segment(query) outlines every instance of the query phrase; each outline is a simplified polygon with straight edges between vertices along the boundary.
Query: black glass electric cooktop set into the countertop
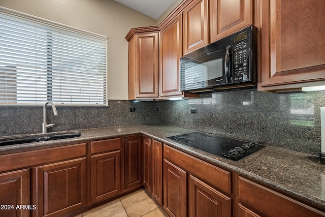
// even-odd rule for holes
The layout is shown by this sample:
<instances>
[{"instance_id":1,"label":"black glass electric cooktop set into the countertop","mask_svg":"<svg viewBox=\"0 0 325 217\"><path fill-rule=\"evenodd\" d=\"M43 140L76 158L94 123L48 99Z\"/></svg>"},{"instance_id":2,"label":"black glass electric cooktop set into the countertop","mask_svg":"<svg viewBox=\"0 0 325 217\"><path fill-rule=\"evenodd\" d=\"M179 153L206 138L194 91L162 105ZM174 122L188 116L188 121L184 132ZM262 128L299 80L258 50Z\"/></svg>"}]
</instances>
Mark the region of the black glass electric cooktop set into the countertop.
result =
<instances>
[{"instance_id":1,"label":"black glass electric cooktop set into the countertop","mask_svg":"<svg viewBox=\"0 0 325 217\"><path fill-rule=\"evenodd\" d=\"M203 150L216 156L239 161L258 150L264 145L254 142L244 142L236 139L220 137L200 132L167 137L183 145Z\"/></svg>"}]
</instances>

